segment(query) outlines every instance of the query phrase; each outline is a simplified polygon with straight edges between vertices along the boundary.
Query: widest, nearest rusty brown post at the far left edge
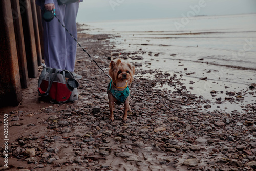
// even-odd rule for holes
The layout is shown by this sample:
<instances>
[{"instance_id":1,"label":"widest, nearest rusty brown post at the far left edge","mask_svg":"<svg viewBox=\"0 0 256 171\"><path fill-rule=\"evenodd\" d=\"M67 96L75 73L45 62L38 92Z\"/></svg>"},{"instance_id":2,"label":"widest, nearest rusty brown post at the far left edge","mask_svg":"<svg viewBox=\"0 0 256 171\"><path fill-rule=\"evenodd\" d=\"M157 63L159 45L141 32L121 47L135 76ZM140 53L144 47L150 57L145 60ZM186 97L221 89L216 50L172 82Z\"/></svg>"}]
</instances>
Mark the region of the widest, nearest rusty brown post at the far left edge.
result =
<instances>
[{"instance_id":1,"label":"widest, nearest rusty brown post at the far left edge","mask_svg":"<svg viewBox=\"0 0 256 171\"><path fill-rule=\"evenodd\" d=\"M22 91L10 1L0 1L0 23L0 106L17 106Z\"/></svg>"}]
</instances>

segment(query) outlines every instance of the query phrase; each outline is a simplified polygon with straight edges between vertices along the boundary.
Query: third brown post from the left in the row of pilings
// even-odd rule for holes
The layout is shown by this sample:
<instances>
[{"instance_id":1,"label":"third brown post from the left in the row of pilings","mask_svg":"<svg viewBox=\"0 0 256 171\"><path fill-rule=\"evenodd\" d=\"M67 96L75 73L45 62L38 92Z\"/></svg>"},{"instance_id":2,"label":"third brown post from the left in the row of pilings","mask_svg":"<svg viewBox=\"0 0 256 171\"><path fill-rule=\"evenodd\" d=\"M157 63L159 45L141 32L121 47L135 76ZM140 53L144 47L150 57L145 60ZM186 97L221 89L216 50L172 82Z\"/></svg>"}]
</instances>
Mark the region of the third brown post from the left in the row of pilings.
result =
<instances>
[{"instance_id":1,"label":"third brown post from the left in the row of pilings","mask_svg":"<svg viewBox=\"0 0 256 171\"><path fill-rule=\"evenodd\" d=\"M36 78L38 75L38 63L30 0L19 0L19 5L20 13L22 14L22 26L27 57L28 75L30 78Z\"/></svg>"}]
</instances>

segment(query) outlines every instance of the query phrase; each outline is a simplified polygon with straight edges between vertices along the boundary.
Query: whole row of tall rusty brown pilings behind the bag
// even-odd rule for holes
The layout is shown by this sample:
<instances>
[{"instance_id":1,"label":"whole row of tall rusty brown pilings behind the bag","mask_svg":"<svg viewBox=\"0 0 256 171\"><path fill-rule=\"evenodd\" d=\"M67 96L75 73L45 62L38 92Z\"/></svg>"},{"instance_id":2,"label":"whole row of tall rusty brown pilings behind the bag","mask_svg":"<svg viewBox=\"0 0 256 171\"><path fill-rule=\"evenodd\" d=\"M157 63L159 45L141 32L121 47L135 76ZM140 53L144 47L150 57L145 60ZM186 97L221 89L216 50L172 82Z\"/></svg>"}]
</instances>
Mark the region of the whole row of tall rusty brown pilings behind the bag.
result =
<instances>
[{"instance_id":1,"label":"whole row of tall rusty brown pilings behind the bag","mask_svg":"<svg viewBox=\"0 0 256 171\"><path fill-rule=\"evenodd\" d=\"M35 0L0 1L0 106L17 106L42 63L41 10Z\"/></svg>"}]
</instances>

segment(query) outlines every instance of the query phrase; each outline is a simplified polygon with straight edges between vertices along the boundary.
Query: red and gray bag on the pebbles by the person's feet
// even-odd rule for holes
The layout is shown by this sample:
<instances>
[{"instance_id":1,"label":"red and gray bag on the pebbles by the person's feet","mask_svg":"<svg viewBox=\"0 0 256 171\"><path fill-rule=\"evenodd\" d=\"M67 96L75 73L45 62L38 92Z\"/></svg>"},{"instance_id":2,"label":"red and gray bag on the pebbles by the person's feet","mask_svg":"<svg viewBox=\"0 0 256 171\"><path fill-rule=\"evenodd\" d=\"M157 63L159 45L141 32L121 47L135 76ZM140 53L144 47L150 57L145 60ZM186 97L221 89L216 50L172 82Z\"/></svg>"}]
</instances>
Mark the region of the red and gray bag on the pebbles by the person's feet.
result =
<instances>
[{"instance_id":1,"label":"red and gray bag on the pebbles by the person's feet","mask_svg":"<svg viewBox=\"0 0 256 171\"><path fill-rule=\"evenodd\" d=\"M79 83L68 70L60 70L42 65L43 69L38 79L38 93L49 96L56 102L74 101L78 99Z\"/></svg>"}]
</instances>

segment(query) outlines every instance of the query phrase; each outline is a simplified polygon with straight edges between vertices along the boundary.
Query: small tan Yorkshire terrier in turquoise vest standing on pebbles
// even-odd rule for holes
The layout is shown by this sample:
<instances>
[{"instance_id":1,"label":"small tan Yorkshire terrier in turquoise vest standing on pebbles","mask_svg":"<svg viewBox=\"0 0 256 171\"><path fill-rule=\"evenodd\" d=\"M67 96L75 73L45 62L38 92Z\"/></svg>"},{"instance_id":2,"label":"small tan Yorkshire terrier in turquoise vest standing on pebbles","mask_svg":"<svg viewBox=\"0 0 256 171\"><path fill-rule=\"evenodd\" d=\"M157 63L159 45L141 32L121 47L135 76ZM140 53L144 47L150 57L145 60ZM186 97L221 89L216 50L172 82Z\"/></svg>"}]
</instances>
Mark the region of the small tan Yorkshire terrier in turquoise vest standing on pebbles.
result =
<instances>
[{"instance_id":1,"label":"small tan Yorkshire terrier in turquoise vest standing on pebbles","mask_svg":"<svg viewBox=\"0 0 256 171\"><path fill-rule=\"evenodd\" d=\"M135 66L130 62L122 62L121 59L111 61L109 75L111 81L108 86L110 107L110 120L114 121L114 102L118 105L124 103L123 121L127 120L127 112L131 111L129 105L130 91L128 85L132 82L135 74Z\"/></svg>"}]
</instances>

